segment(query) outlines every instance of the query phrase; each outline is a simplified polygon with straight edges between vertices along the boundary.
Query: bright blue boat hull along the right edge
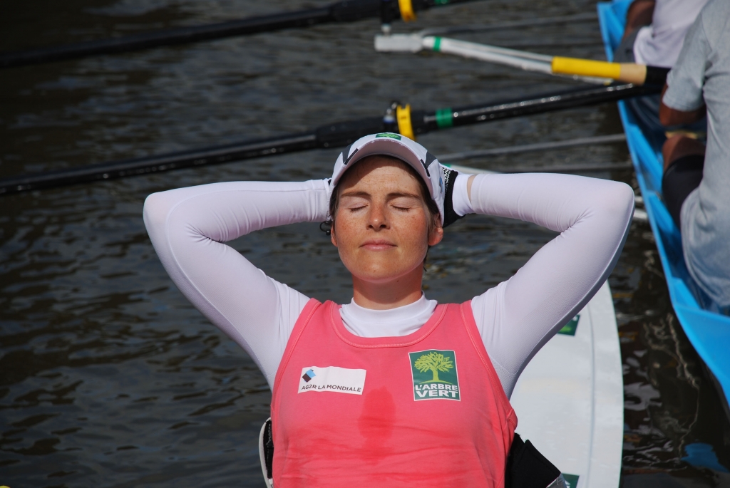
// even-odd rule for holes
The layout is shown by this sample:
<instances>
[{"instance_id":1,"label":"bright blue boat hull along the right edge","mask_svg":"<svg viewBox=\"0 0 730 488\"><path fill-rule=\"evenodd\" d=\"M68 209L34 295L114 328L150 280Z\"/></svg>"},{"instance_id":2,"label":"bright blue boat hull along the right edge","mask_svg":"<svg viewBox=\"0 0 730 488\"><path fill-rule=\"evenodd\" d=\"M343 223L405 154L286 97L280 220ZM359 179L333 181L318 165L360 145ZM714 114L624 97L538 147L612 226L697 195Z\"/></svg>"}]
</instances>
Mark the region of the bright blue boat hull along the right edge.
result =
<instances>
[{"instance_id":1,"label":"bright blue boat hull along the right edge","mask_svg":"<svg viewBox=\"0 0 730 488\"><path fill-rule=\"evenodd\" d=\"M630 4L631 0L598 4L601 35L609 61L621 42ZM730 395L730 317L715 314L700 305L705 303L707 306L707 299L687 271L680 231L661 198L661 147L652 147L650 139L642 133L623 101L618 102L618 111L664 268L669 298L687 337L719 383L727 409Z\"/></svg>"}]
</instances>

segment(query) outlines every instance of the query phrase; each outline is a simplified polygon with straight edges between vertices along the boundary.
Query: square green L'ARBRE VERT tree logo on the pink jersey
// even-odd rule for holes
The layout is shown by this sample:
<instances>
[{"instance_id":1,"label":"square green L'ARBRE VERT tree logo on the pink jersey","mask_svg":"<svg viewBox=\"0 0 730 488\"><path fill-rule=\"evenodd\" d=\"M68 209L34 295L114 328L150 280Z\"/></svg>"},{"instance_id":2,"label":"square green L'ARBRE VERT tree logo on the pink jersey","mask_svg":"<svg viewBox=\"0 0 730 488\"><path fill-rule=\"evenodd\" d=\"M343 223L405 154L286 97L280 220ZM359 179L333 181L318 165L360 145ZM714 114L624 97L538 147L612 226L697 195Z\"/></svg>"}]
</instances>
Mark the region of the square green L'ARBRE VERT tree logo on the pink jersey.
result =
<instances>
[{"instance_id":1,"label":"square green L'ARBRE VERT tree logo on the pink jersey","mask_svg":"<svg viewBox=\"0 0 730 488\"><path fill-rule=\"evenodd\" d=\"M453 351L409 352L413 378L413 400L458 400L458 372Z\"/></svg>"}]
</instances>

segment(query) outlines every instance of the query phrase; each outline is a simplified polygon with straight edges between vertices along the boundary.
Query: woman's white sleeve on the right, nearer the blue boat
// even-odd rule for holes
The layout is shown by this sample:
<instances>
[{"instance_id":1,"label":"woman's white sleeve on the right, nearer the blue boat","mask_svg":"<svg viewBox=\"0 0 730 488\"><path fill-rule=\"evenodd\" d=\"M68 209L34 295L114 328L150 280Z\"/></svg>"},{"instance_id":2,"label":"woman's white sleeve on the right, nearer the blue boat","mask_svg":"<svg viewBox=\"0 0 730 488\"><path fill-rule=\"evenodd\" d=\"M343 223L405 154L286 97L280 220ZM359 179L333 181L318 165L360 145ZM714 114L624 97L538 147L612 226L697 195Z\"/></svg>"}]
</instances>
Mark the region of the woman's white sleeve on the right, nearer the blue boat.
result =
<instances>
[{"instance_id":1,"label":"woman's white sleeve on the right, nearer the blue boat","mask_svg":"<svg viewBox=\"0 0 730 488\"><path fill-rule=\"evenodd\" d=\"M634 191L566 174L480 174L478 214L560 232L519 271L472 300L477 327L509 398L529 360L606 281L631 225Z\"/></svg>"}]
</instances>

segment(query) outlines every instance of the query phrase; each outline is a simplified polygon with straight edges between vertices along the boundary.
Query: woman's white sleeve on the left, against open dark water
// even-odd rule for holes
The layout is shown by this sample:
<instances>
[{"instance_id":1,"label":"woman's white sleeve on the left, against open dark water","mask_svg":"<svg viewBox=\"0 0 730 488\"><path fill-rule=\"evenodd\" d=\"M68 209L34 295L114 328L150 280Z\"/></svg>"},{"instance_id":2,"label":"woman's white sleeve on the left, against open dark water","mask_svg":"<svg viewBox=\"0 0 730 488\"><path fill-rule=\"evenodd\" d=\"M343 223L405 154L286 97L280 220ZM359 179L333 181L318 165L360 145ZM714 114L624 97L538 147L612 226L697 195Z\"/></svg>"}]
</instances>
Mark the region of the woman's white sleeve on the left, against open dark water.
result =
<instances>
[{"instance_id":1,"label":"woman's white sleeve on the left, against open dark water","mask_svg":"<svg viewBox=\"0 0 730 488\"><path fill-rule=\"evenodd\" d=\"M275 225L325 220L326 182L231 182L153 193L145 225L174 284L239 344L273 387L308 298L223 244Z\"/></svg>"}]
</instances>

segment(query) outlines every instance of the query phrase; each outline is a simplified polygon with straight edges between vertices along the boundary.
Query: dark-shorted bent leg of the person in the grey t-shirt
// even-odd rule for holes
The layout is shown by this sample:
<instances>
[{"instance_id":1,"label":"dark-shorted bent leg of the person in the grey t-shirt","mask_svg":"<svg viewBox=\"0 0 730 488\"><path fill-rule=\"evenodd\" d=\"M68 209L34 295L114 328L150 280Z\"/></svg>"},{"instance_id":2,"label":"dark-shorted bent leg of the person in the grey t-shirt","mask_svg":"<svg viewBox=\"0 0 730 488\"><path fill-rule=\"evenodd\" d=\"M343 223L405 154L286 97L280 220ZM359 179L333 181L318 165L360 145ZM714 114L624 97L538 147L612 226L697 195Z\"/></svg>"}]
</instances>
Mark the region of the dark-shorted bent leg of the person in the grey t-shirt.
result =
<instances>
[{"instance_id":1,"label":"dark-shorted bent leg of the person in the grey t-shirt","mask_svg":"<svg viewBox=\"0 0 730 488\"><path fill-rule=\"evenodd\" d=\"M673 136L666 139L661 152L664 156L661 193L669 214L681 229L682 204L702 182L704 144L687 136Z\"/></svg>"}]
</instances>

